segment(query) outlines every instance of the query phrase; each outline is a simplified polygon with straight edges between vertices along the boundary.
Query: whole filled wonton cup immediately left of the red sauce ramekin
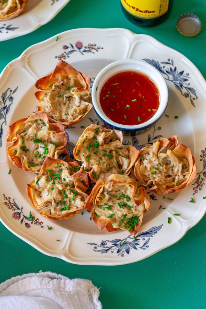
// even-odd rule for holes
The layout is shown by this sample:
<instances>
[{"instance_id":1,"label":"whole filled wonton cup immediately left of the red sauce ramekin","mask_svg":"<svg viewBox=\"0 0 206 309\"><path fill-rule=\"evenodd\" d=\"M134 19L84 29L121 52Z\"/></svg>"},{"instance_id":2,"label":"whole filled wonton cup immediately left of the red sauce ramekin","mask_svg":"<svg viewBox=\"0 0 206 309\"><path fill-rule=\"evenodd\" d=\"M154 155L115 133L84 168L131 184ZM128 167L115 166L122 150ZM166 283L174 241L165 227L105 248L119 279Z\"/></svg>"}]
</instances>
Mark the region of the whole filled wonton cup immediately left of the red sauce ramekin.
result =
<instances>
[{"instance_id":1,"label":"whole filled wonton cup immediately left of the red sauce ramekin","mask_svg":"<svg viewBox=\"0 0 206 309\"><path fill-rule=\"evenodd\" d=\"M80 122L92 108L90 77L61 60L52 74L40 78L35 93L49 121L71 126Z\"/></svg>"}]
</instances>

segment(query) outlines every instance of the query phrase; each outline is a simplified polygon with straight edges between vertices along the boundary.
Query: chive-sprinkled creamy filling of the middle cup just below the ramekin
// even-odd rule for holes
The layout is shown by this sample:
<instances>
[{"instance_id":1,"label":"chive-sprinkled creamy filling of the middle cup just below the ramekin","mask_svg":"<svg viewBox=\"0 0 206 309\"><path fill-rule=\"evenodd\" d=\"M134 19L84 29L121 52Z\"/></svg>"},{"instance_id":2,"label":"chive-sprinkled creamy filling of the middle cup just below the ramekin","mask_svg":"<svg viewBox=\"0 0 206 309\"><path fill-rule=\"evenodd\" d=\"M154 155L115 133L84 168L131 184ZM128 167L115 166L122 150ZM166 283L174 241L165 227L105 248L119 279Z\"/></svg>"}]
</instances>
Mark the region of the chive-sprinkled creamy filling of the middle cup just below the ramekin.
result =
<instances>
[{"instance_id":1,"label":"chive-sprinkled creamy filling of the middle cup just below the ramekin","mask_svg":"<svg viewBox=\"0 0 206 309\"><path fill-rule=\"evenodd\" d=\"M77 149L78 159L83 161L86 170L92 169L94 179L111 174L124 174L130 164L126 147L115 138L105 144L104 135L101 128L88 130Z\"/></svg>"}]
</instances>

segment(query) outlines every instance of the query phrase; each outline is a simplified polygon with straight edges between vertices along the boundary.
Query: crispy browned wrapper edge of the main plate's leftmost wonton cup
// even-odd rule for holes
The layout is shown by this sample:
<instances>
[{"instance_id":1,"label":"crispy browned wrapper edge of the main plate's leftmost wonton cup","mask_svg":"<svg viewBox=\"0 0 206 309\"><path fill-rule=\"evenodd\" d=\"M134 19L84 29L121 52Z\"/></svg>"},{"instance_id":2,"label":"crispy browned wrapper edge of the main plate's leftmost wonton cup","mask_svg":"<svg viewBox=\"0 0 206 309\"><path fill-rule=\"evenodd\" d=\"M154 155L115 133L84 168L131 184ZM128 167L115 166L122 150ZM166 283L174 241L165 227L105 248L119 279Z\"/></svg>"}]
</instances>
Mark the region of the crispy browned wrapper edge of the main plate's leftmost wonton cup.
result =
<instances>
[{"instance_id":1,"label":"crispy browned wrapper edge of the main plate's leftmost wonton cup","mask_svg":"<svg viewBox=\"0 0 206 309\"><path fill-rule=\"evenodd\" d=\"M19 143L19 139L17 138L16 133L21 131L27 120L30 121L36 118L42 119L44 120L45 123L48 124L48 117L46 112L38 111L36 113L33 113L30 117L15 121L12 125L9 126L6 133L7 142L12 143L11 146L7 147L8 158L16 167L23 168L24 171L29 171L31 173L34 173L36 171L31 171L30 169L27 168L26 156L24 156L24 158L21 160L21 158L15 154L15 150L17 149ZM65 133L65 129L63 125L57 123L49 124L49 129L52 131L51 141L54 142L57 146L55 149L54 158L58 159L58 156L62 153L62 151L65 150L65 146L67 144L67 136ZM38 171L39 170L37 170L37 172Z\"/></svg>"}]
</instances>

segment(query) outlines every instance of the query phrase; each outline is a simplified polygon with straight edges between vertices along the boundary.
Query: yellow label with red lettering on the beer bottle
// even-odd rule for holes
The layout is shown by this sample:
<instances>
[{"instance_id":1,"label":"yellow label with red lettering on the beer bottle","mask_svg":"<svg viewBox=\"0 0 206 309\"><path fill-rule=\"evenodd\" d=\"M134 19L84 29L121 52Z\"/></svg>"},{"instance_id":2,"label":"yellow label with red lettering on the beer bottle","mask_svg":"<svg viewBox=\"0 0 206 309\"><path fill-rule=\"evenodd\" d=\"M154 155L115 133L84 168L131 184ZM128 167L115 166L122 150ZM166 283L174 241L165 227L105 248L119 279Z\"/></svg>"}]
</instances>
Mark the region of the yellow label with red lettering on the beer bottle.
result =
<instances>
[{"instance_id":1,"label":"yellow label with red lettering on the beer bottle","mask_svg":"<svg viewBox=\"0 0 206 309\"><path fill-rule=\"evenodd\" d=\"M169 0L121 0L128 13L139 18L157 18L168 11Z\"/></svg>"}]
</instances>

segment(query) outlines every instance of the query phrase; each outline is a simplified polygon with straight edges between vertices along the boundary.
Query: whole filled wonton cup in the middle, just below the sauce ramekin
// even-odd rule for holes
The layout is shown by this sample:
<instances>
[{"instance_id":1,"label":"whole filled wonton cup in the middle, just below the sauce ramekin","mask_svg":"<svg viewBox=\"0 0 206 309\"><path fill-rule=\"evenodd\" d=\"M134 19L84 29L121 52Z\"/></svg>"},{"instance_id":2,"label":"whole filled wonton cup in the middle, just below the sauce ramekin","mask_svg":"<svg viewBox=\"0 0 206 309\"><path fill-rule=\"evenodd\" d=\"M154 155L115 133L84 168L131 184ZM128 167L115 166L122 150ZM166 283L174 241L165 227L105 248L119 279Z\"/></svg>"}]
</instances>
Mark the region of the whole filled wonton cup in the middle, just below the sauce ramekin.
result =
<instances>
[{"instance_id":1,"label":"whole filled wonton cup in the middle, just below the sauce ramekin","mask_svg":"<svg viewBox=\"0 0 206 309\"><path fill-rule=\"evenodd\" d=\"M121 131L92 124L78 139L74 158L83 162L82 168L94 182L111 174L128 175L139 150L132 145L122 145L122 140Z\"/></svg>"}]
</instances>

